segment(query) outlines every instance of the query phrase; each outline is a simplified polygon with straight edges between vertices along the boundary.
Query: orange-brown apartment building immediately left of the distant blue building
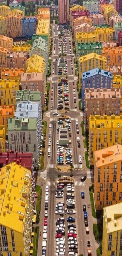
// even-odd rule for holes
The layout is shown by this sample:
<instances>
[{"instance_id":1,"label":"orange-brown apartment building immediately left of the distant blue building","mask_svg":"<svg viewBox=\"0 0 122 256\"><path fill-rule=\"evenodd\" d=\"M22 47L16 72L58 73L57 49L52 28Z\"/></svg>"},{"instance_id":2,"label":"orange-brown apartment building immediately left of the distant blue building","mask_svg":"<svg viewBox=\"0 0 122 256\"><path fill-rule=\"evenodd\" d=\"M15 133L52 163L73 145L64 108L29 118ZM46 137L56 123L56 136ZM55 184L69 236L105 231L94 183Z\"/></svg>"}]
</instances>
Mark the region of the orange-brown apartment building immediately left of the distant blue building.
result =
<instances>
[{"instance_id":1,"label":"orange-brown apartment building immediately left of the distant blue building","mask_svg":"<svg viewBox=\"0 0 122 256\"><path fill-rule=\"evenodd\" d=\"M11 38L22 37L21 17L11 15L6 17L6 36Z\"/></svg>"}]
</instances>

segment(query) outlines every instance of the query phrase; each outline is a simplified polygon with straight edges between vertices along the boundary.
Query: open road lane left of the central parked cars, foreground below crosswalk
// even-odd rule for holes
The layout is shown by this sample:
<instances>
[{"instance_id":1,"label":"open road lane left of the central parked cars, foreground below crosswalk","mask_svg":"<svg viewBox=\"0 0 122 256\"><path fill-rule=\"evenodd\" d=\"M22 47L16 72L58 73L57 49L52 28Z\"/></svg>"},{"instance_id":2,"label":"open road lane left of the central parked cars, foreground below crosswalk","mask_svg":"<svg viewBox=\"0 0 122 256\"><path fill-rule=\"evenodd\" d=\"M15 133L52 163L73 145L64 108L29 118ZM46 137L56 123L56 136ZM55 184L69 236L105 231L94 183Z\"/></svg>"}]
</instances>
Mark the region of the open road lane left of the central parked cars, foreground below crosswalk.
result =
<instances>
[{"instance_id":1,"label":"open road lane left of the central parked cars, foreground below crosswalk","mask_svg":"<svg viewBox=\"0 0 122 256\"><path fill-rule=\"evenodd\" d=\"M46 256L54 255L54 205L55 205L55 188L49 187L48 200L48 232L47 232L47 250Z\"/></svg>"}]
</instances>

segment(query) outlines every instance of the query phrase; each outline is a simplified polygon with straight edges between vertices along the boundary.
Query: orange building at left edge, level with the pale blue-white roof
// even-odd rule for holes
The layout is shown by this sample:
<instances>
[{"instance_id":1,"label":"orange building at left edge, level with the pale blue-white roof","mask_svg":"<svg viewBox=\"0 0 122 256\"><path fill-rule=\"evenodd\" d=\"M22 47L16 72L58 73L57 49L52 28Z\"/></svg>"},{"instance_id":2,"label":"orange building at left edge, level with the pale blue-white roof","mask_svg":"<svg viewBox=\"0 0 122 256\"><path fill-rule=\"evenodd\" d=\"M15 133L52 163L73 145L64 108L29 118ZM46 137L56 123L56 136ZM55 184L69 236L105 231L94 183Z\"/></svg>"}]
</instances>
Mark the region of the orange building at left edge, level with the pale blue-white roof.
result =
<instances>
[{"instance_id":1,"label":"orange building at left edge, level with the pale blue-white roof","mask_svg":"<svg viewBox=\"0 0 122 256\"><path fill-rule=\"evenodd\" d=\"M8 126L8 118L14 117L14 105L2 105L0 106L0 124Z\"/></svg>"}]
</instances>

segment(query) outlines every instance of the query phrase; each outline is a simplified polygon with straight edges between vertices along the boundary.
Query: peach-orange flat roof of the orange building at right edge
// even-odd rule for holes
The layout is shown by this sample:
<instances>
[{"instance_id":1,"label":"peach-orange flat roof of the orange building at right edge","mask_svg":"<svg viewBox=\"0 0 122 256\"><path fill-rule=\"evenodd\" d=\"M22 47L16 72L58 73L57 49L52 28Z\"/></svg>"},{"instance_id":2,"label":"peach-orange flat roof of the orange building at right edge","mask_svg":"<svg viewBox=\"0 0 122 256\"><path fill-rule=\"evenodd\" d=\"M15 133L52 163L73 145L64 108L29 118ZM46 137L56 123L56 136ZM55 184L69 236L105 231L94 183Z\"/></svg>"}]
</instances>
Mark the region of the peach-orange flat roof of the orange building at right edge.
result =
<instances>
[{"instance_id":1,"label":"peach-orange flat roof of the orange building at right edge","mask_svg":"<svg viewBox=\"0 0 122 256\"><path fill-rule=\"evenodd\" d=\"M97 168L122 159L122 145L114 145L94 152L94 161Z\"/></svg>"}]
</instances>

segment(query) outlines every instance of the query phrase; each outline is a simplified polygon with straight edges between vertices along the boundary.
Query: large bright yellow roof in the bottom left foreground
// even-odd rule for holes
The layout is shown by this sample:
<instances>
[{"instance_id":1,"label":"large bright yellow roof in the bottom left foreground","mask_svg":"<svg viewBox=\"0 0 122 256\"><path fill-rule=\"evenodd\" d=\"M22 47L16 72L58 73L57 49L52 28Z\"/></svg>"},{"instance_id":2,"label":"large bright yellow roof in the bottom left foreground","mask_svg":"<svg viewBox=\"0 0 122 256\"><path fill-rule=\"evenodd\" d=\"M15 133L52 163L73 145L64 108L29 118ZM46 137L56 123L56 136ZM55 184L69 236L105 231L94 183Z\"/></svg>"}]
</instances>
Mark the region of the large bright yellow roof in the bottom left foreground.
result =
<instances>
[{"instance_id":1,"label":"large bright yellow roof in the bottom left foreground","mask_svg":"<svg viewBox=\"0 0 122 256\"><path fill-rule=\"evenodd\" d=\"M26 181L26 183L25 183ZM24 232L31 171L11 163L0 172L0 224Z\"/></svg>"}]
</instances>

